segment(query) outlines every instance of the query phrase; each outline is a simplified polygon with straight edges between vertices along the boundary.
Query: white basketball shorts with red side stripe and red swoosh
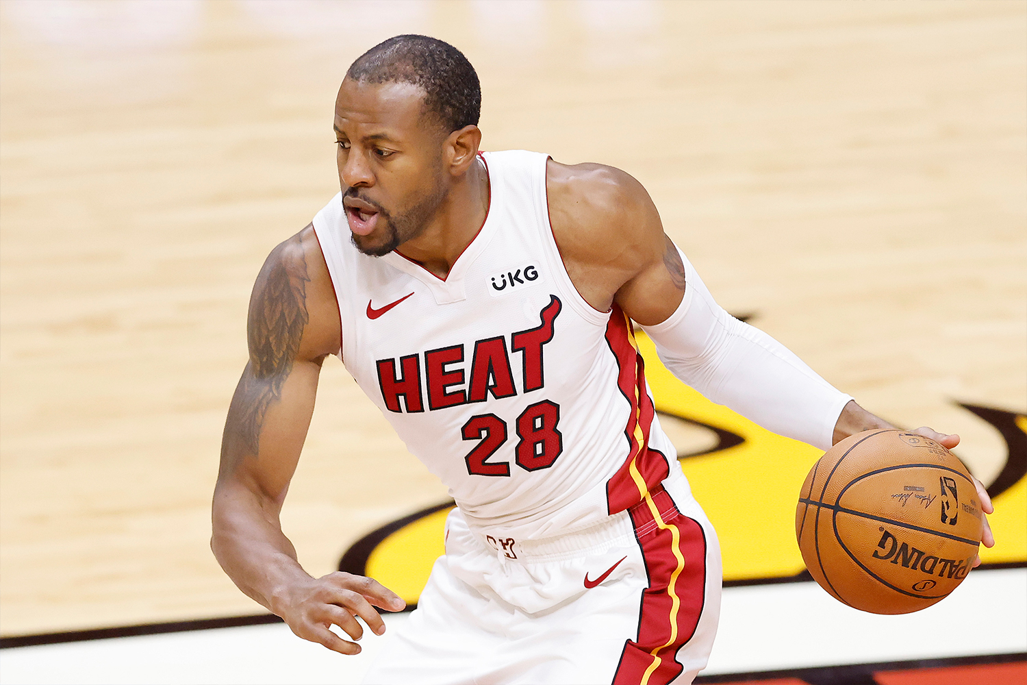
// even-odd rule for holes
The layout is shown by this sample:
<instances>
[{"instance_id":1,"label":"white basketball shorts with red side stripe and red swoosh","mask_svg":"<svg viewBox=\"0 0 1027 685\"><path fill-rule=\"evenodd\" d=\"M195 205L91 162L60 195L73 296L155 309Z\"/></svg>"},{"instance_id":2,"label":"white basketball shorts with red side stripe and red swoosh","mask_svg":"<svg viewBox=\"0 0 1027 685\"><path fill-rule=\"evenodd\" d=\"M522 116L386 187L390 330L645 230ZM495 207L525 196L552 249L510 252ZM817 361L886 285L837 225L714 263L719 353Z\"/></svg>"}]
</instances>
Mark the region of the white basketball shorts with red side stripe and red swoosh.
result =
<instances>
[{"instance_id":1,"label":"white basketball shorts with red side stripe and red swoosh","mask_svg":"<svg viewBox=\"0 0 1027 685\"><path fill-rule=\"evenodd\" d=\"M447 521L446 555L368 684L684 685L720 615L720 547L676 478L598 526L519 542Z\"/></svg>"}]
</instances>

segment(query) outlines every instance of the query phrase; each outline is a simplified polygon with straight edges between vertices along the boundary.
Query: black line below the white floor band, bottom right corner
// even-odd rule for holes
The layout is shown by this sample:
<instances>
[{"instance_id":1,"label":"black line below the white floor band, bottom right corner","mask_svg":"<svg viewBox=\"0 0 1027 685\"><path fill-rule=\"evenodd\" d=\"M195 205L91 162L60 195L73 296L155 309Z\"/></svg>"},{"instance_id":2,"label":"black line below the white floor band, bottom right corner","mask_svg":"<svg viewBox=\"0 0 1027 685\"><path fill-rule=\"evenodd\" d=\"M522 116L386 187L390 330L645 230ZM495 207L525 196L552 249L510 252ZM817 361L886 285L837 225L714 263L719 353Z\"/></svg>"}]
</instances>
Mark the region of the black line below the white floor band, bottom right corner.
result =
<instances>
[{"instance_id":1,"label":"black line below the white floor band, bottom right corner","mask_svg":"<svg viewBox=\"0 0 1027 685\"><path fill-rule=\"evenodd\" d=\"M1027 652L1011 654L985 654L982 656L954 656L937 659L915 659L910 661L883 661L880 663L853 663L846 665L820 667L813 669L786 669L782 671L754 671L750 673L717 674L695 678L695 685L707 683L759 682L794 678L810 685L870 685L876 683L874 674L882 671L911 671L915 669L938 669L959 665L987 665L995 663L1016 663L1027 661ZM982 684L983 685L983 684Z\"/></svg>"}]
</instances>

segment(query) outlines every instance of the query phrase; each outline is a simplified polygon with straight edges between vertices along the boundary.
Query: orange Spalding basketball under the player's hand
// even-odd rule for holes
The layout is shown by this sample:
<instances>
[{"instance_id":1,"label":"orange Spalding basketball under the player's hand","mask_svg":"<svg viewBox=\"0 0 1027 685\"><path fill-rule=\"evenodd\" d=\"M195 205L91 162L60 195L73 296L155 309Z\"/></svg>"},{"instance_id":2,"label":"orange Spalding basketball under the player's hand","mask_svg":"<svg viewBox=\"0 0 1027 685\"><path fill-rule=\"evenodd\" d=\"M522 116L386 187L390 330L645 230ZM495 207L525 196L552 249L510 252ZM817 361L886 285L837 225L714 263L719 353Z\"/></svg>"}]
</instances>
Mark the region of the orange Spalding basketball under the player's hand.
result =
<instances>
[{"instance_id":1,"label":"orange Spalding basketball under the player's hand","mask_svg":"<svg viewBox=\"0 0 1027 685\"><path fill-rule=\"evenodd\" d=\"M845 604L919 611L962 582L983 532L962 462L906 430L868 430L828 450L802 484L795 531L806 568Z\"/></svg>"}]
</instances>

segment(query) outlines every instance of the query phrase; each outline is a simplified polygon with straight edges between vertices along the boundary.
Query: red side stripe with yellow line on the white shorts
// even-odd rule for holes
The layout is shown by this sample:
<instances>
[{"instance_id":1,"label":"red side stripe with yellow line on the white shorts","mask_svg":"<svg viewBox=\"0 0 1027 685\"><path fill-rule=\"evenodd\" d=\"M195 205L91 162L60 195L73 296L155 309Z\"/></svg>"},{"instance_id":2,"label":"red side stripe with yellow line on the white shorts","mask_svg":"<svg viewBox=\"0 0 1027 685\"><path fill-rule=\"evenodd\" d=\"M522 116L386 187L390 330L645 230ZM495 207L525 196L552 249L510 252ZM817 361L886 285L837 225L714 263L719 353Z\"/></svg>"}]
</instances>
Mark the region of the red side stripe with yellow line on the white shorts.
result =
<instances>
[{"instance_id":1,"label":"red side stripe with yellow line on the white shorts","mask_svg":"<svg viewBox=\"0 0 1027 685\"><path fill-rule=\"evenodd\" d=\"M706 534L664 490L629 511L649 586L642 594L638 638L624 643L613 685L667 685L681 674L675 655L702 613Z\"/></svg>"}]
</instances>

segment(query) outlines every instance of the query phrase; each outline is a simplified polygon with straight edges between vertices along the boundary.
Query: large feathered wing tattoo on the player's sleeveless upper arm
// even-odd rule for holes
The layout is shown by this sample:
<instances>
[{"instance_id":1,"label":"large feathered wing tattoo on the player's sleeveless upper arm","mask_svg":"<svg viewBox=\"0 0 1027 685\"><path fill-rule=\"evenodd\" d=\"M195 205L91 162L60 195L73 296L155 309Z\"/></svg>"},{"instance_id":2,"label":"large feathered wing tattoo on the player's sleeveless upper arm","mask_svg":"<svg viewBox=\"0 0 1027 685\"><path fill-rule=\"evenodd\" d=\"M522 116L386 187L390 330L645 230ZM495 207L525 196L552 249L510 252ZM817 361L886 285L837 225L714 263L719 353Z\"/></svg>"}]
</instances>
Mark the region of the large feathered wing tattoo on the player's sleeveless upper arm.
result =
<instances>
[{"instance_id":1,"label":"large feathered wing tattoo on the player's sleeveless upper arm","mask_svg":"<svg viewBox=\"0 0 1027 685\"><path fill-rule=\"evenodd\" d=\"M264 263L250 303L250 363L228 410L223 453L235 439L244 451L257 454L264 416L271 403L281 397L309 320L309 280L298 237L275 248Z\"/></svg>"}]
</instances>

